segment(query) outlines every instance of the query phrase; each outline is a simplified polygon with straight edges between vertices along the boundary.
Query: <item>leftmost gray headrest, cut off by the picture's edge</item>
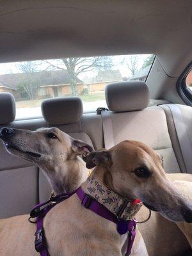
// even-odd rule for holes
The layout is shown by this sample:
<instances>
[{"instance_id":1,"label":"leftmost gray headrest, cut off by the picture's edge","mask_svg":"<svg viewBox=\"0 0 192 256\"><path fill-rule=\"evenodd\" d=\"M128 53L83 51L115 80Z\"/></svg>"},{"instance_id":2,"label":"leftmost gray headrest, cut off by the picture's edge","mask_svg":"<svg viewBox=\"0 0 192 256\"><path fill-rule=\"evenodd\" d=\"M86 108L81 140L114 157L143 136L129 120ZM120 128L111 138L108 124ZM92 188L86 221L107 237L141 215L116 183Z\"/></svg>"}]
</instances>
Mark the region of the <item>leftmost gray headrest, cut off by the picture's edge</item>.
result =
<instances>
[{"instance_id":1,"label":"leftmost gray headrest, cut off by the picture's edge","mask_svg":"<svg viewBox=\"0 0 192 256\"><path fill-rule=\"evenodd\" d=\"M0 125L10 124L15 120L15 98L12 93L0 93Z\"/></svg>"}]
</instances>

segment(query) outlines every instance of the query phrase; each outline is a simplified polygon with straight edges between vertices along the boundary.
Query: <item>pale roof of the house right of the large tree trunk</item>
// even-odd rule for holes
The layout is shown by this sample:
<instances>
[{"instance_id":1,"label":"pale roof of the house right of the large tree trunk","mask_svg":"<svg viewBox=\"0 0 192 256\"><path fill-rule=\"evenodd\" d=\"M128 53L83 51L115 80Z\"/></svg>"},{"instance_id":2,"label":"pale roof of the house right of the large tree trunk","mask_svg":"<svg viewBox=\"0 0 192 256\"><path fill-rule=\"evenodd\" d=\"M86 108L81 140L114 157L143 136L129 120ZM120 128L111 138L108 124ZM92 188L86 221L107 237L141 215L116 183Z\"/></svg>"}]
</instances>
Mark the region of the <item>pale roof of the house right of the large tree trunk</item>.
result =
<instances>
[{"instance_id":1,"label":"pale roof of the house right of the large tree trunk","mask_svg":"<svg viewBox=\"0 0 192 256\"><path fill-rule=\"evenodd\" d=\"M100 70L95 77L84 77L84 84L93 83L110 83L115 81L122 81L122 74L118 69L116 70Z\"/></svg>"}]
</instances>

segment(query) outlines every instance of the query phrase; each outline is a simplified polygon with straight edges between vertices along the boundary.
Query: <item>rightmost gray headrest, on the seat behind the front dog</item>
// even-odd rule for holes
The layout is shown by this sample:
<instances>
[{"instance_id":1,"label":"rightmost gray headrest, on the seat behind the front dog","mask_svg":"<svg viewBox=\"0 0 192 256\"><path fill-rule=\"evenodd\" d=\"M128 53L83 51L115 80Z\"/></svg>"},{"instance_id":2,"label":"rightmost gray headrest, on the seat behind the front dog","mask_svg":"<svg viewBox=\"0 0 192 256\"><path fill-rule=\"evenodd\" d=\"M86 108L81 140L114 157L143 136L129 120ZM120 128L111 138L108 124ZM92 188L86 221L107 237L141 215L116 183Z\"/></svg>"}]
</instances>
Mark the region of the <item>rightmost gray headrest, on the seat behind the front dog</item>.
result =
<instances>
[{"instance_id":1,"label":"rightmost gray headrest, on the seat behind the front dog","mask_svg":"<svg viewBox=\"0 0 192 256\"><path fill-rule=\"evenodd\" d=\"M142 81L111 83L106 86L106 102L109 110L114 112L147 108L149 100L147 84Z\"/></svg>"}]
</instances>

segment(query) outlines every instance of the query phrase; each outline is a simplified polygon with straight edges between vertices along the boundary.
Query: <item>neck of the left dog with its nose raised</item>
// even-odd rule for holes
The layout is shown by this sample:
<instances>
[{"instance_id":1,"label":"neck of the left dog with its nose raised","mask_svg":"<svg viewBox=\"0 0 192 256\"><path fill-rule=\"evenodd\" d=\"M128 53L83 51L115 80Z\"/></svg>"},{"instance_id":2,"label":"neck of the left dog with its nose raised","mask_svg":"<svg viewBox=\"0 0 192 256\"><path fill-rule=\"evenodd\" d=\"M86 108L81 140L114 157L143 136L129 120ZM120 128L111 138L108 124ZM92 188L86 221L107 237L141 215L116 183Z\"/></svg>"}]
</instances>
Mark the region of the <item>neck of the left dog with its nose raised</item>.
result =
<instances>
[{"instance_id":1,"label":"neck of the left dog with its nose raised","mask_svg":"<svg viewBox=\"0 0 192 256\"><path fill-rule=\"evenodd\" d=\"M75 191L87 179L90 173L79 156L57 166L44 165L41 168L51 184L54 195Z\"/></svg>"}]
</instances>

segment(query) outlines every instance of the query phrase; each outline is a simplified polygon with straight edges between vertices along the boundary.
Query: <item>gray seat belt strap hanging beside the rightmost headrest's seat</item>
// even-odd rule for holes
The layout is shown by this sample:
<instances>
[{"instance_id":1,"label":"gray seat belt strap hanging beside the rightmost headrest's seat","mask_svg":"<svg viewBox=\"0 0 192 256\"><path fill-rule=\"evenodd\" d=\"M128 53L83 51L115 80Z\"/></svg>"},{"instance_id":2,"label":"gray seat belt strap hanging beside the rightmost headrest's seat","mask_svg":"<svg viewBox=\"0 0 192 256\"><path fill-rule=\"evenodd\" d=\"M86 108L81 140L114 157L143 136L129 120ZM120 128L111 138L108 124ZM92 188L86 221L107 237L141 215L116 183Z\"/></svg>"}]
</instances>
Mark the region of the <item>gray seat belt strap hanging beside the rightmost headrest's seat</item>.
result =
<instances>
[{"instance_id":1,"label":"gray seat belt strap hanging beside the rightmost headrest's seat","mask_svg":"<svg viewBox=\"0 0 192 256\"><path fill-rule=\"evenodd\" d=\"M109 110L103 110L100 112L102 117L102 131L104 136L104 147L109 149L115 146L113 137L113 125L111 120L111 113Z\"/></svg>"}]
</instances>

